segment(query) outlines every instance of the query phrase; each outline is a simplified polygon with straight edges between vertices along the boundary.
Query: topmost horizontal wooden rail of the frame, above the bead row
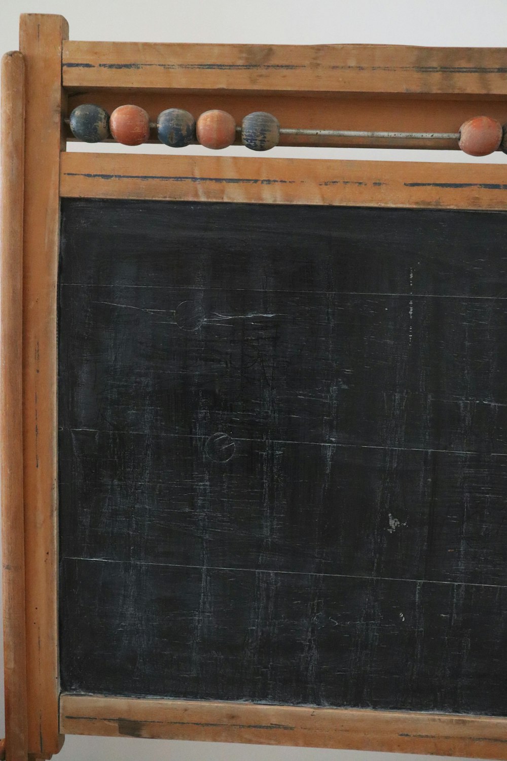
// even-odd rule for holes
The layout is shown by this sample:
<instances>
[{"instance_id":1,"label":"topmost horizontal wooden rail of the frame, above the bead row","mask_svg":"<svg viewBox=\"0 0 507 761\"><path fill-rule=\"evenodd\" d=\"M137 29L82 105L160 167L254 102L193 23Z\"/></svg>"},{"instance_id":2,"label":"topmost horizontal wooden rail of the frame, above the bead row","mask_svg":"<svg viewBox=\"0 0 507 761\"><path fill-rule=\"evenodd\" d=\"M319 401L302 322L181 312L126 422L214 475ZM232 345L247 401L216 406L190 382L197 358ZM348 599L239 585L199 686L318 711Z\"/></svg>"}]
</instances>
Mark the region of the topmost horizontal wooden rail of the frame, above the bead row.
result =
<instances>
[{"instance_id":1,"label":"topmost horizontal wooden rail of the frame, above the bead row","mask_svg":"<svg viewBox=\"0 0 507 761\"><path fill-rule=\"evenodd\" d=\"M505 50L396 45L64 45L65 88L505 97Z\"/></svg>"}]
</instances>

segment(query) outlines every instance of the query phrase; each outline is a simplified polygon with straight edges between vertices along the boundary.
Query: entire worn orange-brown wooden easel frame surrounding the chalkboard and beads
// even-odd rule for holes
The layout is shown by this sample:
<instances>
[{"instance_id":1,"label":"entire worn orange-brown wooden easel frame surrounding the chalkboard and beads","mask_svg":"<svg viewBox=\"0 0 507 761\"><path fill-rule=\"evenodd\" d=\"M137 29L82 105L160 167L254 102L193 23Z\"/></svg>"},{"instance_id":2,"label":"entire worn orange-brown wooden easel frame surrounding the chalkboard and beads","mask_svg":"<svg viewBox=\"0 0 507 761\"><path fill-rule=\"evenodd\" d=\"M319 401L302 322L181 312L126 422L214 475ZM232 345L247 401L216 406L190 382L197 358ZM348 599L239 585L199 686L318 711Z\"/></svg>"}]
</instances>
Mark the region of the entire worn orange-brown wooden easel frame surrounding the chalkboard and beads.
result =
<instances>
[{"instance_id":1,"label":"entire worn orange-brown wooden easel frame surrounding the chalkboard and beads","mask_svg":"<svg viewBox=\"0 0 507 761\"><path fill-rule=\"evenodd\" d=\"M500 164L65 153L71 108L133 102L152 119L170 105L195 115L224 108L237 123L268 110L287 127L455 132L479 113L507 121L505 49L67 38L65 19L23 15L21 52L2 60L8 761L49 759L66 733L507 759L507 718L60 694L56 448L60 197L507 209ZM281 145L319 141L285 136ZM401 139L385 145L416 147Z\"/></svg>"}]
</instances>

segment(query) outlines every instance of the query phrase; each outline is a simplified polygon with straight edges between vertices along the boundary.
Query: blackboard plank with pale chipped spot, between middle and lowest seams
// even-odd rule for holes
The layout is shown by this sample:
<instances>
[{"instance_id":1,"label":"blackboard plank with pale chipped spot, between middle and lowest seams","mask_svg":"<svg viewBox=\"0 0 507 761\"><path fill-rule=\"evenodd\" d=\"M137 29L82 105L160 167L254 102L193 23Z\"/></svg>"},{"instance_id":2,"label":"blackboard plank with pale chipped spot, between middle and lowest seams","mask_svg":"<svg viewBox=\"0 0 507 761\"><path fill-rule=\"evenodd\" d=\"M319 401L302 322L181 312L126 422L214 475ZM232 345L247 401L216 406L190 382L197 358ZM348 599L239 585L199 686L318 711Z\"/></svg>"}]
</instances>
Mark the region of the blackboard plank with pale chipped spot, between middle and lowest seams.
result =
<instances>
[{"instance_id":1,"label":"blackboard plank with pale chipped spot, between middle and lowest seams","mask_svg":"<svg viewBox=\"0 0 507 761\"><path fill-rule=\"evenodd\" d=\"M507 582L507 458L63 431L62 554ZM63 480L65 473L65 480Z\"/></svg>"}]
</instances>

